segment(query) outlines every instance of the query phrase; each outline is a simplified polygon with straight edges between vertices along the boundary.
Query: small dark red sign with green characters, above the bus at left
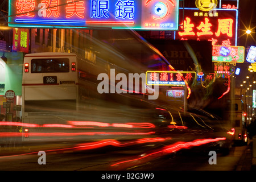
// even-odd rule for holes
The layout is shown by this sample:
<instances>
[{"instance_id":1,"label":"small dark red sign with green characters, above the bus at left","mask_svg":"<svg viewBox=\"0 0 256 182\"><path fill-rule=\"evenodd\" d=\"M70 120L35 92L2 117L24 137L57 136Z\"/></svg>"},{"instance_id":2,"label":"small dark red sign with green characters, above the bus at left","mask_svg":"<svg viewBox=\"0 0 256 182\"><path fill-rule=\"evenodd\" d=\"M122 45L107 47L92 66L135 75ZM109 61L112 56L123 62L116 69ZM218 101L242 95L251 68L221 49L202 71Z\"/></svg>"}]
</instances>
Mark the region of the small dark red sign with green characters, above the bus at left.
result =
<instances>
[{"instance_id":1,"label":"small dark red sign with green characters, above the bus at left","mask_svg":"<svg viewBox=\"0 0 256 182\"><path fill-rule=\"evenodd\" d=\"M13 29L13 51L29 52L29 31L27 28Z\"/></svg>"}]
</instances>

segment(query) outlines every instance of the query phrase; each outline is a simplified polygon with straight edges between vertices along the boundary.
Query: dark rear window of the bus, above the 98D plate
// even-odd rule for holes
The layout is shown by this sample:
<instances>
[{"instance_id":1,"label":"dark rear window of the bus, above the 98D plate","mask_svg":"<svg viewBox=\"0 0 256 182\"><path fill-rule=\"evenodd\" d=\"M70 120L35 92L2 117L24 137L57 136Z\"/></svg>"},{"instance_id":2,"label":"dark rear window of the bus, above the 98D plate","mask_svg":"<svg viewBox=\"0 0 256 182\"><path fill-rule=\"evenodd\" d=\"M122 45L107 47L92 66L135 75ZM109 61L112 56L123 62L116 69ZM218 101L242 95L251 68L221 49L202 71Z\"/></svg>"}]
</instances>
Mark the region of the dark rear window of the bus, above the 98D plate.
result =
<instances>
[{"instance_id":1,"label":"dark rear window of the bus, above the 98D plate","mask_svg":"<svg viewBox=\"0 0 256 182\"><path fill-rule=\"evenodd\" d=\"M31 73L63 73L69 72L69 59L32 59Z\"/></svg>"}]
</instances>

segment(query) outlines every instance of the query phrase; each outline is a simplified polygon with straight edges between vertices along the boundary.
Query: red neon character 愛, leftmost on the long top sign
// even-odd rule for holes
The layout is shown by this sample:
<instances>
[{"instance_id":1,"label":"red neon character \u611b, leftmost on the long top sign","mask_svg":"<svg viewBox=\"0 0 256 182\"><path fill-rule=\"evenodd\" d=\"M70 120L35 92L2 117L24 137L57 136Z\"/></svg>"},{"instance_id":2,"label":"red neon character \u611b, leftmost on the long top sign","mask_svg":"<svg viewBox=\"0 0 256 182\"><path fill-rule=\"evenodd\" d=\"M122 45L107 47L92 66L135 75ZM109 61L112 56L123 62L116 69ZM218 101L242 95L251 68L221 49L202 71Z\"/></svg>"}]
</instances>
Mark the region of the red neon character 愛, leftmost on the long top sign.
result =
<instances>
[{"instance_id":1,"label":"red neon character \u611b, leftmost on the long top sign","mask_svg":"<svg viewBox=\"0 0 256 182\"><path fill-rule=\"evenodd\" d=\"M35 10L35 0L18 0L16 1L17 16L34 17L31 11Z\"/></svg>"}]
</instances>

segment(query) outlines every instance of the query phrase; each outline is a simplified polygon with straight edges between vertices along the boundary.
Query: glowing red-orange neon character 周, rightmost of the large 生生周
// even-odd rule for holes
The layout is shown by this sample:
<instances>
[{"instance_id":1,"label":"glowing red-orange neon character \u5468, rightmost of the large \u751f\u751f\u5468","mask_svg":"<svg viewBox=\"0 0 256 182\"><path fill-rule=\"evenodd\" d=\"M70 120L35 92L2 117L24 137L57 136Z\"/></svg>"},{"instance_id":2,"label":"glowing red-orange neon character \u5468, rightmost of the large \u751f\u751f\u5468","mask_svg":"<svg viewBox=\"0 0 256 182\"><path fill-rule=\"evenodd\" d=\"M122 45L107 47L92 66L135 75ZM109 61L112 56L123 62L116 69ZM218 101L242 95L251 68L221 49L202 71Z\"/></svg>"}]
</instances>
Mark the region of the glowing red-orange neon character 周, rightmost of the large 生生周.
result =
<instances>
[{"instance_id":1,"label":"glowing red-orange neon character \u5468, rightmost of the large \u751f\u751f\u5468","mask_svg":"<svg viewBox=\"0 0 256 182\"><path fill-rule=\"evenodd\" d=\"M215 33L216 36L220 36L220 34L226 34L229 37L233 36L232 26L233 19L218 19L218 31Z\"/></svg>"}]
</instances>

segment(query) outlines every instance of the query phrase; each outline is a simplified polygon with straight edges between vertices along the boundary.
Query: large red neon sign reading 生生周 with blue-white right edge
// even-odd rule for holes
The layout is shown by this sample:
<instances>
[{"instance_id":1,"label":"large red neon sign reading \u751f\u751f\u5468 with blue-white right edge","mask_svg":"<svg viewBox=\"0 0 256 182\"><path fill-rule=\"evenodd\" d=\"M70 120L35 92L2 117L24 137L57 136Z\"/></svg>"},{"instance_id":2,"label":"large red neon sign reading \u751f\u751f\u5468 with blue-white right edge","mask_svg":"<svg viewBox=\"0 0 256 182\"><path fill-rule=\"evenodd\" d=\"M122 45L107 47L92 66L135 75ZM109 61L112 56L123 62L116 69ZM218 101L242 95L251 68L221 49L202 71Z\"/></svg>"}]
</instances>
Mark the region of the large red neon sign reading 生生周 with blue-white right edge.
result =
<instances>
[{"instance_id":1,"label":"large red neon sign reading \u751f\u751f\u5468 with blue-white right edge","mask_svg":"<svg viewBox=\"0 0 256 182\"><path fill-rule=\"evenodd\" d=\"M180 9L180 13L181 13ZM184 20L180 17L181 30L175 34L177 40L208 40L212 45L237 46L238 10L214 9L201 11L184 9Z\"/></svg>"}]
</instances>

